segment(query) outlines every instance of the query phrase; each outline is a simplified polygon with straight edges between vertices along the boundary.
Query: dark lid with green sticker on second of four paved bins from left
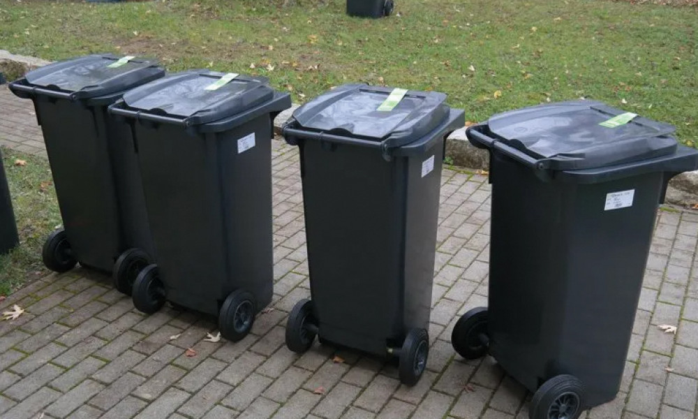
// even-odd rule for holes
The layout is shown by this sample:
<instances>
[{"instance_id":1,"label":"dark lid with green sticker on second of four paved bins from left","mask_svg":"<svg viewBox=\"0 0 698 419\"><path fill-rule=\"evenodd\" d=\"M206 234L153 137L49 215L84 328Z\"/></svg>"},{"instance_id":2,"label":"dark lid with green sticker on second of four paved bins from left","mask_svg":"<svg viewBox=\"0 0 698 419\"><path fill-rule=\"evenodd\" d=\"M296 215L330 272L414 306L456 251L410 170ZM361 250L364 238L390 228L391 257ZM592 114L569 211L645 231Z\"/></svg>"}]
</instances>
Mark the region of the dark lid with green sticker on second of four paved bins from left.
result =
<instances>
[{"instance_id":1,"label":"dark lid with green sticker on second of four paved bins from left","mask_svg":"<svg viewBox=\"0 0 698 419\"><path fill-rule=\"evenodd\" d=\"M237 115L271 100L264 77L191 70L174 73L124 94L128 107L205 124Z\"/></svg>"}]
</instances>

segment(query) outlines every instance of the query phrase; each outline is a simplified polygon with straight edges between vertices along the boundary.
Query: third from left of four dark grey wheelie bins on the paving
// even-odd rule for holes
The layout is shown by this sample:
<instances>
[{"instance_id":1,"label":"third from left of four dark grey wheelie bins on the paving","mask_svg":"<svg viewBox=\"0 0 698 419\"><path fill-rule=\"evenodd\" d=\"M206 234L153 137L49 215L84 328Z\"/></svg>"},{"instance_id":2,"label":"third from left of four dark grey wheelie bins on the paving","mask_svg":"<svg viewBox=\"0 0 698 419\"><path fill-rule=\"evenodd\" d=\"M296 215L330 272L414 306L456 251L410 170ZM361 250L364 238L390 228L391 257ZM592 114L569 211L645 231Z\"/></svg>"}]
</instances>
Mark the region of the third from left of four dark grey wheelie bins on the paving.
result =
<instances>
[{"instance_id":1,"label":"third from left of four dark grey wheelie bins on the paving","mask_svg":"<svg viewBox=\"0 0 698 419\"><path fill-rule=\"evenodd\" d=\"M429 355L429 314L445 138L463 126L446 95L347 84L297 109L311 300L286 344L320 341L399 358L414 385Z\"/></svg>"}]
</instances>

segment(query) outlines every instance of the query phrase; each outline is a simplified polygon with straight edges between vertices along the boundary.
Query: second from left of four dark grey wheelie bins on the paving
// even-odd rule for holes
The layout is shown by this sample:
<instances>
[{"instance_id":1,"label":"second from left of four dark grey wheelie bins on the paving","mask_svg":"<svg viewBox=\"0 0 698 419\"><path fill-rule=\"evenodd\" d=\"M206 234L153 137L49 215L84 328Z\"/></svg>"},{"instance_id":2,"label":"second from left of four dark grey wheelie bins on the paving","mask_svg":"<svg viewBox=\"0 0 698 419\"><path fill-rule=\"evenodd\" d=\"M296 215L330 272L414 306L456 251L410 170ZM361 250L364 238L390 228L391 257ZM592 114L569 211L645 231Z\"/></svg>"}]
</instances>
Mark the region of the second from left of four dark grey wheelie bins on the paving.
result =
<instances>
[{"instance_id":1,"label":"second from left of four dark grey wheelie bins on the paving","mask_svg":"<svg viewBox=\"0 0 698 419\"><path fill-rule=\"evenodd\" d=\"M273 122L290 105L266 78L193 70L110 108L132 127L158 250L133 284L140 311L169 300L248 334L272 301Z\"/></svg>"}]
</instances>

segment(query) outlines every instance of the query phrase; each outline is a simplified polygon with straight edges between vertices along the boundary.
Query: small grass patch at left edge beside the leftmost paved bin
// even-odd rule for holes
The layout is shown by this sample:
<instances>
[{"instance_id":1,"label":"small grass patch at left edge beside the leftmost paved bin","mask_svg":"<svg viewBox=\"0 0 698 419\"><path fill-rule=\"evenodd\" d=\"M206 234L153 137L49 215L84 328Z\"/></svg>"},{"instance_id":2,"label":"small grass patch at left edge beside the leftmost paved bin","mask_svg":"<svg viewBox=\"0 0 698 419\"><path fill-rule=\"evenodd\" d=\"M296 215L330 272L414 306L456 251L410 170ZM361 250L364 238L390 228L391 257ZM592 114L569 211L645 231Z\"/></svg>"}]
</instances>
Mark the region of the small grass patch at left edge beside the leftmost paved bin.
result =
<instances>
[{"instance_id":1,"label":"small grass patch at left edge beside the leftmost paved bin","mask_svg":"<svg viewBox=\"0 0 698 419\"><path fill-rule=\"evenodd\" d=\"M47 274L41 247L61 217L46 159L6 148L2 154L21 242L10 254L0 256L0 295L8 295L26 281ZM26 166L15 166L17 160Z\"/></svg>"}]
</instances>

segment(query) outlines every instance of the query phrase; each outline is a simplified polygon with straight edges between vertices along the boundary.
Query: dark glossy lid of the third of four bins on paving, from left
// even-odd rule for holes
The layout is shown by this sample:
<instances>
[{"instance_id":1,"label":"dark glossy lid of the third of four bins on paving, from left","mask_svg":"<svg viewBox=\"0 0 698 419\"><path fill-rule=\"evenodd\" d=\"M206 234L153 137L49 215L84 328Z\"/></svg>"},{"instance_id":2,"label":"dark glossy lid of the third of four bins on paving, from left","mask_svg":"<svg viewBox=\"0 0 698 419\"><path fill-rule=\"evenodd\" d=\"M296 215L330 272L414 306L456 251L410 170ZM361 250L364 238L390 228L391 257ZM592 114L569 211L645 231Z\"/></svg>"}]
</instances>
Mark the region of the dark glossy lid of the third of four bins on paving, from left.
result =
<instances>
[{"instance_id":1,"label":"dark glossy lid of the third of four bins on paving, from left","mask_svg":"<svg viewBox=\"0 0 698 419\"><path fill-rule=\"evenodd\" d=\"M344 84L318 96L293 112L303 128L352 135L368 140L400 137L418 140L443 123L450 108L436 91L406 91L394 108L378 110L395 89L367 84Z\"/></svg>"}]
</instances>

